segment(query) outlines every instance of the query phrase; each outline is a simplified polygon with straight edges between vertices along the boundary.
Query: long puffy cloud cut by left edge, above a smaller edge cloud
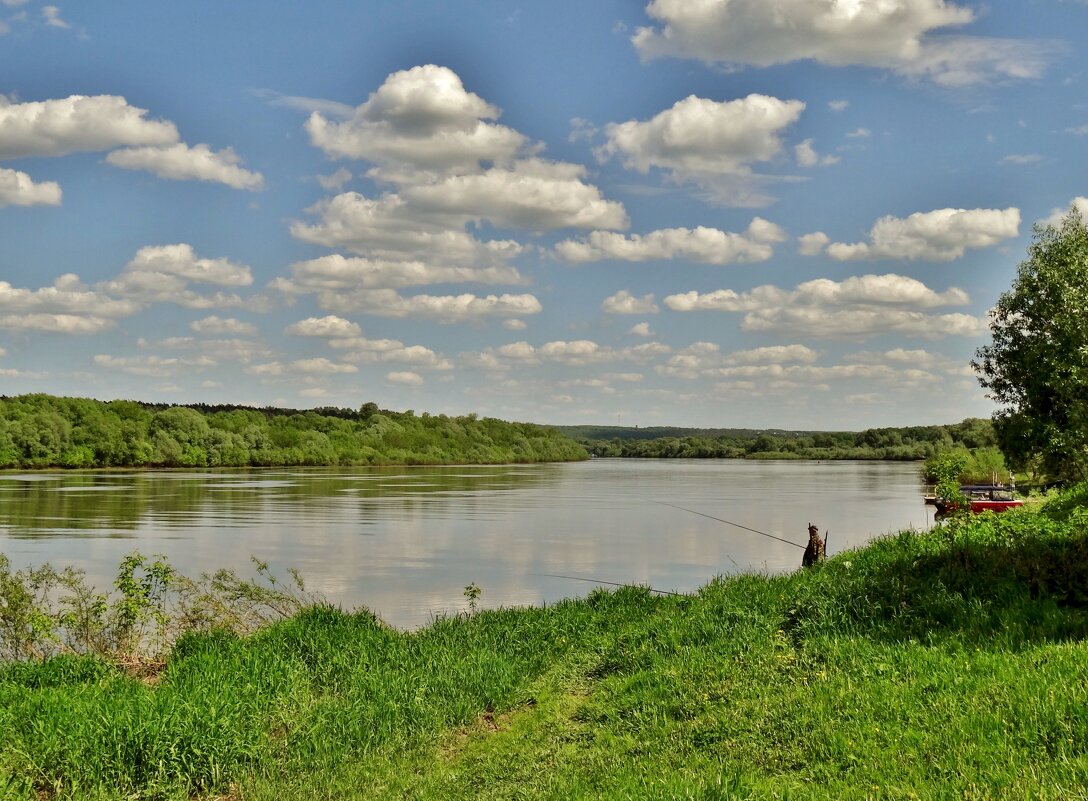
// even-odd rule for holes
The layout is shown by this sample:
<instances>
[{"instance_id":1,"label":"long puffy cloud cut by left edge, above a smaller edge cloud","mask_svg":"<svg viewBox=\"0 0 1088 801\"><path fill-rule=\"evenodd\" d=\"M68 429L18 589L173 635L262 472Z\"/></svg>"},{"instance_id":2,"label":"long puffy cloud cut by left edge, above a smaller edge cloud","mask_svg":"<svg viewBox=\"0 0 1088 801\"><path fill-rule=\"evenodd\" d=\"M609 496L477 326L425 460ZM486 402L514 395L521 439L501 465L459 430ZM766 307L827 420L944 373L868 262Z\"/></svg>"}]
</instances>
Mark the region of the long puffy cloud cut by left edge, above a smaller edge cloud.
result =
<instances>
[{"instance_id":1,"label":"long puffy cloud cut by left edge, above a smaller edge cloud","mask_svg":"<svg viewBox=\"0 0 1088 801\"><path fill-rule=\"evenodd\" d=\"M65 156L125 146L177 141L177 128L146 120L146 109L123 97L73 95L63 100L13 103L0 96L0 159Z\"/></svg>"}]
</instances>

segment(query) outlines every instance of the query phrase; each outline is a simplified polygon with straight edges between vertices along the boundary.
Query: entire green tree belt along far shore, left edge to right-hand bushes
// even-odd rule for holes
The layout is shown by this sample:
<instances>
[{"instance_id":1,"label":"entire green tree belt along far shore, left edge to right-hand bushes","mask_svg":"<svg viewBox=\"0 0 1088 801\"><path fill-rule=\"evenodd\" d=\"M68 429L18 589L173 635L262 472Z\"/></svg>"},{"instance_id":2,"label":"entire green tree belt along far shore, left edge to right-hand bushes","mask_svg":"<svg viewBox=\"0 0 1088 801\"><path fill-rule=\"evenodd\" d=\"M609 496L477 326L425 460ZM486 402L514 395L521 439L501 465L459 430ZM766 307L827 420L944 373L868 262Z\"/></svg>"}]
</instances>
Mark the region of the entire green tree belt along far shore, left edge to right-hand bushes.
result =
<instances>
[{"instance_id":1,"label":"entire green tree belt along far shore, left edge to right-hand bushes","mask_svg":"<svg viewBox=\"0 0 1088 801\"><path fill-rule=\"evenodd\" d=\"M517 464L618 458L927 460L1005 471L990 420L861 432L542 426L367 403L309 410L0 396L0 469Z\"/></svg>"}]
</instances>

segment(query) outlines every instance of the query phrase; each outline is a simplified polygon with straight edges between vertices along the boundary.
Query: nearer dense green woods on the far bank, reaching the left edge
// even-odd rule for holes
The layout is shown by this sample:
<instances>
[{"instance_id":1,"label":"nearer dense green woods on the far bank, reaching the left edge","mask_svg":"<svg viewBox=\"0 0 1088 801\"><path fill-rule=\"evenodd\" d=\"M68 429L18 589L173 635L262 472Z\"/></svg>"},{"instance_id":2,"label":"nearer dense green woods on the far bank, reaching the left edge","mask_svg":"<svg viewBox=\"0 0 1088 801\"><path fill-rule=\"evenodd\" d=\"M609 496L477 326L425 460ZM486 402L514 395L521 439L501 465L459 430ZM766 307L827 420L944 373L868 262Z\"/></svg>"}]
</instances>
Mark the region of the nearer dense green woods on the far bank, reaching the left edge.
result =
<instances>
[{"instance_id":1,"label":"nearer dense green woods on the far bank, reaching the left edge","mask_svg":"<svg viewBox=\"0 0 1088 801\"><path fill-rule=\"evenodd\" d=\"M0 468L280 467L570 461L555 429L491 418L0 396Z\"/></svg>"}]
</instances>

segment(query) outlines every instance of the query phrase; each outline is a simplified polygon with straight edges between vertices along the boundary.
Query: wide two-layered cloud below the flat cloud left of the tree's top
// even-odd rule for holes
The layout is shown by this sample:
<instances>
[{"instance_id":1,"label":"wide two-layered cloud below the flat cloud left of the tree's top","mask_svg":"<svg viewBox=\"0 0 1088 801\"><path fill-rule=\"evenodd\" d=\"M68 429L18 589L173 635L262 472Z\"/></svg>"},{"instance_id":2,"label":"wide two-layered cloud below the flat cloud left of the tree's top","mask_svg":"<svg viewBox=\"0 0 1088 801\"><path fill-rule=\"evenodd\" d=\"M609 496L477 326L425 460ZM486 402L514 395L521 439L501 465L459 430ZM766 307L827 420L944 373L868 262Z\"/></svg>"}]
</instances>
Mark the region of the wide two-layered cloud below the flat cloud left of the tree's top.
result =
<instances>
[{"instance_id":1,"label":"wide two-layered cloud below the flat cloud left of the tree's top","mask_svg":"<svg viewBox=\"0 0 1088 801\"><path fill-rule=\"evenodd\" d=\"M987 330L985 318L930 311L968 301L967 294L956 287L939 293L920 281L894 273L853 276L840 282L817 279L792 291L764 285L745 293L718 289L665 298L665 305L673 311L742 313L744 331L843 338L890 332L929 337L975 336Z\"/></svg>"}]
</instances>

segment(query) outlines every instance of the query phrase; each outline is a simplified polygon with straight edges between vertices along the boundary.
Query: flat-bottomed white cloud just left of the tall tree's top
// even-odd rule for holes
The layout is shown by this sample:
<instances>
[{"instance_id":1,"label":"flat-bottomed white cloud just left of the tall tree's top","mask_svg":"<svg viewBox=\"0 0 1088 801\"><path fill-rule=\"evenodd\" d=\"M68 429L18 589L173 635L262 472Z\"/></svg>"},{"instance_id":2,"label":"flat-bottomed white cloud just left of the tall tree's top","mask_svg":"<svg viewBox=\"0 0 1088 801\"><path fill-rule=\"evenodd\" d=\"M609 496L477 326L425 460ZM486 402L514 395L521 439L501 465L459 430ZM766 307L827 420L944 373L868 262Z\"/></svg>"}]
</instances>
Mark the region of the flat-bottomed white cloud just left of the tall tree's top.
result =
<instances>
[{"instance_id":1,"label":"flat-bottomed white cloud just left of the tall tree's top","mask_svg":"<svg viewBox=\"0 0 1088 801\"><path fill-rule=\"evenodd\" d=\"M952 261L967 248L991 247L1016 236L1019 223L1017 208L936 209L905 219L889 214L874 223L869 243L832 243L827 254L838 261Z\"/></svg>"}]
</instances>

